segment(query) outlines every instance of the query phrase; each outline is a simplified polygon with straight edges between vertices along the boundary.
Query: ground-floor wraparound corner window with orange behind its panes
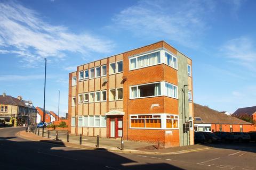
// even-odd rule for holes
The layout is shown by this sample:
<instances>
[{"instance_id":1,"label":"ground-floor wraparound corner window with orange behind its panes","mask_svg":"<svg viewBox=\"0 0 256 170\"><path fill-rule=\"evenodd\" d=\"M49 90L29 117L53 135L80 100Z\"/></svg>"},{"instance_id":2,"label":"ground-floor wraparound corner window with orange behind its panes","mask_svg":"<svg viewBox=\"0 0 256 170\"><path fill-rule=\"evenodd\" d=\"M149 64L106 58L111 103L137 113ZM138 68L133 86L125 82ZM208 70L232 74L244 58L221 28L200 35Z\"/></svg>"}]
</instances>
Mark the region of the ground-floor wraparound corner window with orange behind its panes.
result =
<instances>
[{"instance_id":1,"label":"ground-floor wraparound corner window with orange behind its panes","mask_svg":"<svg viewBox=\"0 0 256 170\"><path fill-rule=\"evenodd\" d=\"M130 115L130 128L134 129L178 129L178 115L143 114Z\"/></svg>"}]
</instances>

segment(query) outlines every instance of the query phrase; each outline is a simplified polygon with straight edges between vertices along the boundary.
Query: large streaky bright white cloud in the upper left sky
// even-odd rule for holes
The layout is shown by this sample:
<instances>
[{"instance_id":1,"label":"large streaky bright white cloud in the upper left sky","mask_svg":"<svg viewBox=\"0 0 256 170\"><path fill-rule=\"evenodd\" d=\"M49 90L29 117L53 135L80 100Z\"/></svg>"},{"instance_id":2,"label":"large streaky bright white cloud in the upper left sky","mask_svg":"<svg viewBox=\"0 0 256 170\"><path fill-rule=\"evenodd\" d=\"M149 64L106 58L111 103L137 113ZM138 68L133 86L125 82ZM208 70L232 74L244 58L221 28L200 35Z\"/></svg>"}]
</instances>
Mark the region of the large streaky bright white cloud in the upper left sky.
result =
<instances>
[{"instance_id":1,"label":"large streaky bright white cloud in the upper left sky","mask_svg":"<svg viewBox=\"0 0 256 170\"><path fill-rule=\"evenodd\" d=\"M66 51L87 55L109 53L114 47L109 40L44 22L35 11L13 2L0 3L0 44L14 48L10 53L21 56L30 67L43 57L62 58Z\"/></svg>"}]
</instances>

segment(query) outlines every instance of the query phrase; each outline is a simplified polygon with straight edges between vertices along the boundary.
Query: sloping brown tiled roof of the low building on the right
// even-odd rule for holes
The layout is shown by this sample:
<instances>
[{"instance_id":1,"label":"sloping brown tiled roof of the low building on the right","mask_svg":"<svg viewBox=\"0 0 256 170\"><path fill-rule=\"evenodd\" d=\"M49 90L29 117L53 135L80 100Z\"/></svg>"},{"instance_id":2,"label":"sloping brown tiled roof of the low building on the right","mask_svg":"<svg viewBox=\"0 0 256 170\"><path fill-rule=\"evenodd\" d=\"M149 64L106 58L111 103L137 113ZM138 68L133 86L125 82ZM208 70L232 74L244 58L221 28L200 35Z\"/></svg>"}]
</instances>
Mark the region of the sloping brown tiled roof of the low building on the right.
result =
<instances>
[{"instance_id":1,"label":"sloping brown tiled roof of the low building on the right","mask_svg":"<svg viewBox=\"0 0 256 170\"><path fill-rule=\"evenodd\" d=\"M236 117L226 115L225 113L215 111L207 106L202 106L194 103L194 116L200 117L202 120L195 123L208 124L251 124Z\"/></svg>"}]
</instances>

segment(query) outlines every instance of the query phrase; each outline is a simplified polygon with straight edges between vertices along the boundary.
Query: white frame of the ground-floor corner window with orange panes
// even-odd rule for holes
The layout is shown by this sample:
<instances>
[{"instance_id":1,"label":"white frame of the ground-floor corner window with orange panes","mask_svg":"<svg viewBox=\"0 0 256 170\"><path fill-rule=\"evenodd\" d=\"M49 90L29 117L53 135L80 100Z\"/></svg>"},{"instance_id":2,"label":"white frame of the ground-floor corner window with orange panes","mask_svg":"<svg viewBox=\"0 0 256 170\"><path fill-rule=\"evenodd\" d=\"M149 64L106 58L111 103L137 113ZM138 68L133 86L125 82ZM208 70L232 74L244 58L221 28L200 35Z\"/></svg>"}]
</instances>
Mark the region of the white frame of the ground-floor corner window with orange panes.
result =
<instances>
[{"instance_id":1,"label":"white frame of the ground-floor corner window with orange panes","mask_svg":"<svg viewBox=\"0 0 256 170\"><path fill-rule=\"evenodd\" d=\"M161 128L133 128L131 127L131 120L132 119L144 119L145 122L144 122L144 127L146 127L146 119L147 118L138 118L138 116L141 116L141 115L152 115L153 118L150 118L150 119L161 119ZM178 128L166 128L166 120L167 119L170 119L170 118L167 118L166 116L169 115L169 116L174 116L174 118L172 120L178 120ZM137 116L137 118L131 118L131 116ZM157 117L157 118L154 118L154 116L160 116L160 117ZM175 118L175 116L178 116L178 118ZM130 129L161 129L161 130L173 130L173 129L179 129L180 127L180 122L179 122L179 115L175 115L175 114L169 114L169 113L154 113L154 114L130 114Z\"/></svg>"}]
</instances>

